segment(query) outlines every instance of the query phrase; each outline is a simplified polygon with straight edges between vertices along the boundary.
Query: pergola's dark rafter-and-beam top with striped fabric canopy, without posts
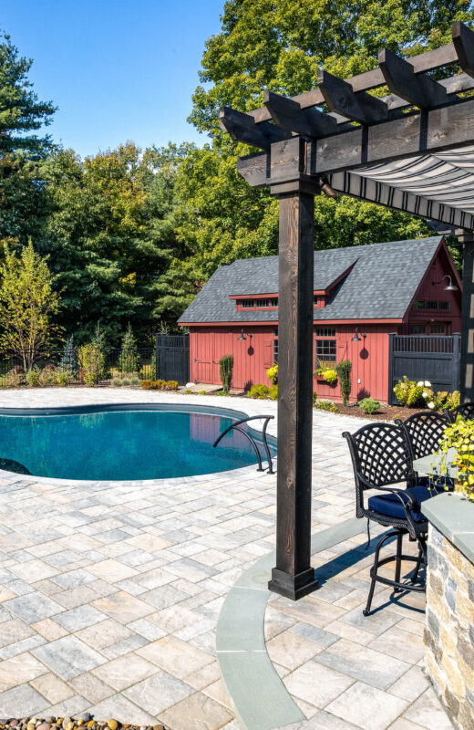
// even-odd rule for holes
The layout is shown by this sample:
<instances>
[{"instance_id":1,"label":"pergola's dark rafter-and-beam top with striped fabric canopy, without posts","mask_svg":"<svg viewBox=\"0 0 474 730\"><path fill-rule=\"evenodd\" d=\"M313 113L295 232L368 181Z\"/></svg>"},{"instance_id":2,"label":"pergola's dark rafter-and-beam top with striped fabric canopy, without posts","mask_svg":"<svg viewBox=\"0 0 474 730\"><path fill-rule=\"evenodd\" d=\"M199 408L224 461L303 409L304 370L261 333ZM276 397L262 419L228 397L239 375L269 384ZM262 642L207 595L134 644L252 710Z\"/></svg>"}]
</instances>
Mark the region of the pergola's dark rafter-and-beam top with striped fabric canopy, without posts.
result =
<instances>
[{"instance_id":1,"label":"pergola's dark rafter-and-beam top with striped fabric canopy, without posts","mask_svg":"<svg viewBox=\"0 0 474 730\"><path fill-rule=\"evenodd\" d=\"M384 48L378 68L346 80L323 70L318 89L293 99L266 91L261 109L222 109L234 140L264 150L241 158L239 171L278 192L294 164L300 179L329 194L474 230L474 99L466 94L474 89L474 33L457 22L452 36L407 59ZM434 80L439 68L451 75ZM381 87L391 93L367 93ZM303 163L295 137L305 143Z\"/></svg>"}]
</instances>

